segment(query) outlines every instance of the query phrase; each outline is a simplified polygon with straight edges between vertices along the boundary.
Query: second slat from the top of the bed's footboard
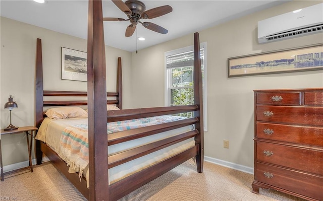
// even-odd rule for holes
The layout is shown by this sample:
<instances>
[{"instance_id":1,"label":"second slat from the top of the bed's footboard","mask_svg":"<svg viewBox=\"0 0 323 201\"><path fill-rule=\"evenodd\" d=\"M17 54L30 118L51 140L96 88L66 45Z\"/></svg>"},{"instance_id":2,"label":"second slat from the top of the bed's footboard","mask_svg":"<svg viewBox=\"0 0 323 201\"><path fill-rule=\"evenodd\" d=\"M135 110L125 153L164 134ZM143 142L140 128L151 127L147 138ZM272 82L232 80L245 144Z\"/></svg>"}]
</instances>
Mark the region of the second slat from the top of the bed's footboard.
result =
<instances>
[{"instance_id":1,"label":"second slat from the top of the bed's footboard","mask_svg":"<svg viewBox=\"0 0 323 201\"><path fill-rule=\"evenodd\" d=\"M189 119L184 119L179 121L173 121L173 122L168 122L163 124L151 125L147 127L141 127L141 128L111 133L107 135L107 144L115 145L118 143L127 142L130 140L154 135L159 132L164 132L175 128L183 127L186 125L191 125L193 123L196 123L197 121L198 119L194 117L194 118L189 118Z\"/></svg>"}]
</instances>

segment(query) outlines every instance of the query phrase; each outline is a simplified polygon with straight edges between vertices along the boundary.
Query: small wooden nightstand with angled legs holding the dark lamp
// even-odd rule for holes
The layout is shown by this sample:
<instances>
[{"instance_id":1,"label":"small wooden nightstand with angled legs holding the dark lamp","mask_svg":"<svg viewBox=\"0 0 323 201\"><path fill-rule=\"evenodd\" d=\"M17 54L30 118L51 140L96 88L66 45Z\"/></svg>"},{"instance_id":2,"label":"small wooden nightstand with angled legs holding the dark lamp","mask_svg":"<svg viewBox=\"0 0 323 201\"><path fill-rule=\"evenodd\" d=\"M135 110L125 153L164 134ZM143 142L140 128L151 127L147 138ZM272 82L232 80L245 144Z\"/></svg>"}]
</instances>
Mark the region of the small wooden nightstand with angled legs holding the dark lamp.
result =
<instances>
[{"instance_id":1,"label":"small wooden nightstand with angled legs holding the dark lamp","mask_svg":"<svg viewBox=\"0 0 323 201\"><path fill-rule=\"evenodd\" d=\"M37 130L37 127L34 126L24 126L24 127L19 127L17 129L14 130L1 130L1 135L7 135L7 134L17 134L17 133L21 133L21 132L25 132L26 133L26 137L27 137L27 147L28 147L28 154L29 154L29 167L30 167L30 171L33 172L32 170L32 162L31 162L31 147L32 147L32 141L33 138L35 138L35 130ZM30 131L30 133L29 133ZM29 142L29 136L30 135L30 142ZM1 138L0 138L0 165L1 165L1 180L3 181L4 178L4 170L3 170L3 166L2 166L2 151L1 151Z\"/></svg>"}]
</instances>

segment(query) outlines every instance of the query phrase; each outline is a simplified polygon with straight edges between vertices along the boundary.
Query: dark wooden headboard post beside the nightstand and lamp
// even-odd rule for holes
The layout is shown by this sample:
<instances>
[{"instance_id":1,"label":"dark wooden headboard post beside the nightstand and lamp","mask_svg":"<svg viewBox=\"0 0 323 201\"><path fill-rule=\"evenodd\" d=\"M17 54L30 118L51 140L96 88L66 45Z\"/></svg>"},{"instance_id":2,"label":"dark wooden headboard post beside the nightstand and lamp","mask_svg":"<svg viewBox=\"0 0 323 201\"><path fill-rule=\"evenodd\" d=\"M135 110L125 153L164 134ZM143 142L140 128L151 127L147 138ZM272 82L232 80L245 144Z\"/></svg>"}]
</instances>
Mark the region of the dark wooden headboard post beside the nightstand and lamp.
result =
<instances>
[{"instance_id":1,"label":"dark wooden headboard post beside the nightstand and lamp","mask_svg":"<svg viewBox=\"0 0 323 201\"><path fill-rule=\"evenodd\" d=\"M39 128L43 119L43 78L42 78L42 52L41 39L37 38L36 46L36 70L35 70L35 126ZM37 135L37 130L36 130ZM36 140L35 152L37 165L41 164L42 152L41 141Z\"/></svg>"}]
</instances>

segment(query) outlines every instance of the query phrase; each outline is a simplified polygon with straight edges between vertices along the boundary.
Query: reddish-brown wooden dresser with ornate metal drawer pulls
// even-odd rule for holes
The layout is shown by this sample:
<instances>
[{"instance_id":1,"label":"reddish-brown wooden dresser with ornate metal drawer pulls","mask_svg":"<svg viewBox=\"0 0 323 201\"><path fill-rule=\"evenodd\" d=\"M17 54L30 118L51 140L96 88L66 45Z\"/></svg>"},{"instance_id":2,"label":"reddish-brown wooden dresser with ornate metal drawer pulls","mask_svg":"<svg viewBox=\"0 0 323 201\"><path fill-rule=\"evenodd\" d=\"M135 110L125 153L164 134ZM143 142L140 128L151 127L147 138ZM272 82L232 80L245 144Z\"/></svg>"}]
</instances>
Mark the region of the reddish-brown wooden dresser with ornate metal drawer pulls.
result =
<instances>
[{"instance_id":1,"label":"reddish-brown wooden dresser with ornate metal drawer pulls","mask_svg":"<svg viewBox=\"0 0 323 201\"><path fill-rule=\"evenodd\" d=\"M323 200L323 88L254 90L252 192Z\"/></svg>"}]
</instances>

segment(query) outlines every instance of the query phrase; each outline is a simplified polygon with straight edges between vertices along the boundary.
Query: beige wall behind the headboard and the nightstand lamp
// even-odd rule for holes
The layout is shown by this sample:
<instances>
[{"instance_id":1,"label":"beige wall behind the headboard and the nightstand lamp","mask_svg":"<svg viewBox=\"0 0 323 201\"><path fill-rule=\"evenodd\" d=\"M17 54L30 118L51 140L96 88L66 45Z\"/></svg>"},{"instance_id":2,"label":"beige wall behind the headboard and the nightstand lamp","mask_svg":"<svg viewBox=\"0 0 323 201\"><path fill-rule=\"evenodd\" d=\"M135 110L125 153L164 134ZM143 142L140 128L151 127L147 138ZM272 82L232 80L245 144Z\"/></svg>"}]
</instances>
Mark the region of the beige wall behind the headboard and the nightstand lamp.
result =
<instances>
[{"instance_id":1,"label":"beige wall behind the headboard and the nightstand lamp","mask_svg":"<svg viewBox=\"0 0 323 201\"><path fill-rule=\"evenodd\" d=\"M18 108L12 111L16 126L34 125L36 39L42 40L44 90L86 91L87 83L61 80L61 47L87 51L84 39L1 18L1 128L9 124L4 109L9 95ZM116 91L118 57L122 57L124 108L131 108L131 53L106 46L107 91ZM10 87L9 87L10 86ZM28 160L23 134L2 136L4 166Z\"/></svg>"}]
</instances>

